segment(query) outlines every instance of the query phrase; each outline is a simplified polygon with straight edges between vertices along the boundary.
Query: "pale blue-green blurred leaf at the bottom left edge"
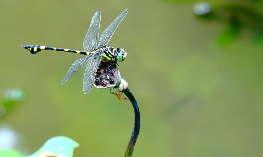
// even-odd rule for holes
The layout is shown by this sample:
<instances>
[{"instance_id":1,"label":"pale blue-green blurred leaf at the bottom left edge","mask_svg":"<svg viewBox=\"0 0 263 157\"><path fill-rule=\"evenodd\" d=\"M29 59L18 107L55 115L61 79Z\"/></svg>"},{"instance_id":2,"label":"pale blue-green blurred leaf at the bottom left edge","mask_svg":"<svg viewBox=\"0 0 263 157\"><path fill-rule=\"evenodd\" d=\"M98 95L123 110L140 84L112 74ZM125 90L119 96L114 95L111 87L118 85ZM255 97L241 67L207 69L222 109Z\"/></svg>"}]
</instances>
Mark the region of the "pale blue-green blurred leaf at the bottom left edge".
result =
<instances>
[{"instance_id":1,"label":"pale blue-green blurred leaf at the bottom left edge","mask_svg":"<svg viewBox=\"0 0 263 157\"><path fill-rule=\"evenodd\" d=\"M77 142L68 137L53 137L36 151L36 153L28 157L72 157L74 148L78 146L79 144Z\"/></svg>"}]
</instances>

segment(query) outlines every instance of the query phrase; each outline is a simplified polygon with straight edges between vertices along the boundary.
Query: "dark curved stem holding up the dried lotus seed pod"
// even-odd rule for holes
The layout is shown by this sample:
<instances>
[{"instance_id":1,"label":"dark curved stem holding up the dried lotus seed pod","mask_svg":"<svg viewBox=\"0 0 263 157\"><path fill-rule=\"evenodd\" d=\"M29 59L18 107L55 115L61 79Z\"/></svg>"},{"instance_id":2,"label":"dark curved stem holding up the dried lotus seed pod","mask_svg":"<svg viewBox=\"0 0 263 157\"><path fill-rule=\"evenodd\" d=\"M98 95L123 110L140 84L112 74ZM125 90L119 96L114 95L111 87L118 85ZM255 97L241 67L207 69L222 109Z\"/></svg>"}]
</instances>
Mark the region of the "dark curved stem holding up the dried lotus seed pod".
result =
<instances>
[{"instance_id":1,"label":"dark curved stem holding up the dried lotus seed pod","mask_svg":"<svg viewBox=\"0 0 263 157\"><path fill-rule=\"evenodd\" d=\"M135 116L134 127L133 127L133 131L131 133L130 142L127 146L127 149L126 149L125 155L124 155L125 157L132 157L134 146L135 146L136 140L137 140L137 138L139 136L139 132L140 132L140 111L139 111L138 104L137 104L133 94L131 94L131 91L129 89L126 89L125 91L123 91L123 93L125 93L125 95L129 98L129 100L131 101L131 104L133 105L133 108L134 108L134 116Z\"/></svg>"}]
</instances>

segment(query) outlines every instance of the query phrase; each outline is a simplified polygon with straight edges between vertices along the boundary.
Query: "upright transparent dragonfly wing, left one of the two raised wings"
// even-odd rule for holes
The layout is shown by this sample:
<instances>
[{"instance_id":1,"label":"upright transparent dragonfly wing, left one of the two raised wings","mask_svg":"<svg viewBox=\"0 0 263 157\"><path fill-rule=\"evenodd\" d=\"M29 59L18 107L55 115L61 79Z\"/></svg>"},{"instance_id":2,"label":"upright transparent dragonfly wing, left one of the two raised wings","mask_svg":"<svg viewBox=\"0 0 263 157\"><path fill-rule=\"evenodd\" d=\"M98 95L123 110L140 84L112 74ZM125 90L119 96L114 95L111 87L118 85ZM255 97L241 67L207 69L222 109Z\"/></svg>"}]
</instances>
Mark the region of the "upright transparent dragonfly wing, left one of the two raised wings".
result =
<instances>
[{"instance_id":1,"label":"upright transparent dragonfly wing, left one of the two raised wings","mask_svg":"<svg viewBox=\"0 0 263 157\"><path fill-rule=\"evenodd\" d=\"M100 11L97 11L93 16L89 25L89 30L83 41L84 51L92 51L99 45L99 25L100 25Z\"/></svg>"}]
</instances>

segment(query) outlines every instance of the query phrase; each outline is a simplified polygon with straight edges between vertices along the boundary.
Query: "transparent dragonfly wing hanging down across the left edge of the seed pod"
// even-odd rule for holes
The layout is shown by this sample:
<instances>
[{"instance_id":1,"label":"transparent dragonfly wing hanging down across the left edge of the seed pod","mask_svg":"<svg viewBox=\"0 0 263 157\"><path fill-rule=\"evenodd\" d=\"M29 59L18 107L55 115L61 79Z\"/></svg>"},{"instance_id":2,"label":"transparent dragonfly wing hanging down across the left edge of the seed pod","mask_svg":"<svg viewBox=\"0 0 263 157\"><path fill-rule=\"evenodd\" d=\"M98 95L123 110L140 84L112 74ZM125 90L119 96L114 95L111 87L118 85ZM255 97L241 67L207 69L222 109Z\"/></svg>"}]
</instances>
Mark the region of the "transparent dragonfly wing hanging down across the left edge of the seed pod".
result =
<instances>
[{"instance_id":1,"label":"transparent dragonfly wing hanging down across the left edge of the seed pod","mask_svg":"<svg viewBox=\"0 0 263 157\"><path fill-rule=\"evenodd\" d=\"M85 95L92 89L102 55L103 51L99 51L88 61L83 78L83 91Z\"/></svg>"}]
</instances>

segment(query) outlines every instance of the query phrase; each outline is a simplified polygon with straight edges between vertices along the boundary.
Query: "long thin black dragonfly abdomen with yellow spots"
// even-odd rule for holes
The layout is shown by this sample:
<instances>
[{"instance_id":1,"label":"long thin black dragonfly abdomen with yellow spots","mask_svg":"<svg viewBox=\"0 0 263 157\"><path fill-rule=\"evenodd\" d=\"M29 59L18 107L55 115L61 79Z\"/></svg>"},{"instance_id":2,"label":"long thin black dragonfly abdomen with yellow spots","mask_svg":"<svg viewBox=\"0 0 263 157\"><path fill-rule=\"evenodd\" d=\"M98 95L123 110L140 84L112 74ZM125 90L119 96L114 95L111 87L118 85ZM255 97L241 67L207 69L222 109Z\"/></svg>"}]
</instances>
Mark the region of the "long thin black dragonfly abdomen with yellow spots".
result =
<instances>
[{"instance_id":1,"label":"long thin black dragonfly abdomen with yellow spots","mask_svg":"<svg viewBox=\"0 0 263 157\"><path fill-rule=\"evenodd\" d=\"M73 53L79 53L79 54L83 54L83 55L90 55L91 53L94 53L94 52L70 50L70 49L66 49L66 48L38 46L38 45L20 45L20 47L23 47L23 48L29 50L33 55L37 54L39 51L42 51L42 50L55 50L55 51L73 52Z\"/></svg>"}]
</instances>

